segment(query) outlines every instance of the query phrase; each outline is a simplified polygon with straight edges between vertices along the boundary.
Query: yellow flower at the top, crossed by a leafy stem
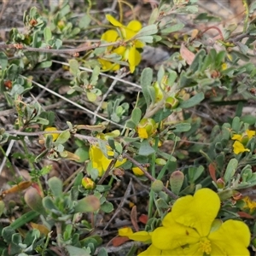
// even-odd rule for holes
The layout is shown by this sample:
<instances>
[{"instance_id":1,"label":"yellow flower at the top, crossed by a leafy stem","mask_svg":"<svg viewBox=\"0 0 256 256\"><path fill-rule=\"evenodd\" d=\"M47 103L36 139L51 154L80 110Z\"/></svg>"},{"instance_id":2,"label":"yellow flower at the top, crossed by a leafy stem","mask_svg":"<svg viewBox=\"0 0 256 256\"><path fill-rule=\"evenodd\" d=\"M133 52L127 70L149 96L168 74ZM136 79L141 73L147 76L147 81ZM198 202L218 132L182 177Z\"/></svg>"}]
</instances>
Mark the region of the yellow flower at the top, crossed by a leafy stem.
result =
<instances>
[{"instance_id":1,"label":"yellow flower at the top, crossed by a leafy stem","mask_svg":"<svg viewBox=\"0 0 256 256\"><path fill-rule=\"evenodd\" d=\"M137 32L142 28L141 22L138 20L131 20L127 26L124 26L118 20L114 19L112 15L106 15L107 20L113 25L118 27L121 39L130 40L133 38ZM108 30L103 33L102 40L107 41L108 43L117 42L119 40L119 33L112 30ZM142 57L137 48L143 48L143 42L134 39L125 46L119 46L116 49L113 49L112 46L108 47L108 50L111 50L113 53L119 54L122 56L122 61L128 61L131 73L134 72L135 67L140 63ZM112 50L113 49L113 50ZM99 59L104 70L118 70L119 64L113 65L111 61L106 61Z\"/></svg>"}]
</instances>

